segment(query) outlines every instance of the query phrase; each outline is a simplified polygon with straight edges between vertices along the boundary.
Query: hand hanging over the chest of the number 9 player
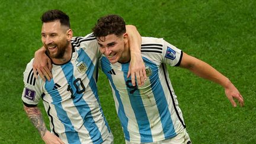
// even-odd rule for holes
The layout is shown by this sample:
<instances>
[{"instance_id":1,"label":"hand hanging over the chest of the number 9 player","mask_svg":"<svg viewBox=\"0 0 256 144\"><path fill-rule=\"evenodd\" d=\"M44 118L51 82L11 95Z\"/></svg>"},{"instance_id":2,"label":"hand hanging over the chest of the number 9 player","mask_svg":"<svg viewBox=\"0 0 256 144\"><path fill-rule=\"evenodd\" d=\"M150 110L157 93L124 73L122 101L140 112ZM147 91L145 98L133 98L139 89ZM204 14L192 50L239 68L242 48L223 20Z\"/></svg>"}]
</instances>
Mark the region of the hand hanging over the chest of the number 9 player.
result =
<instances>
[{"instance_id":1,"label":"hand hanging over the chest of the number 9 player","mask_svg":"<svg viewBox=\"0 0 256 144\"><path fill-rule=\"evenodd\" d=\"M146 81L146 71L145 71L145 64L142 60L142 56L140 53L134 53L134 55L131 55L131 61L129 66L129 71L127 74L127 78L129 76L132 76L132 85L136 85L136 79L137 84L139 86L144 85L144 82ZM136 76L136 77L135 77Z\"/></svg>"}]
</instances>

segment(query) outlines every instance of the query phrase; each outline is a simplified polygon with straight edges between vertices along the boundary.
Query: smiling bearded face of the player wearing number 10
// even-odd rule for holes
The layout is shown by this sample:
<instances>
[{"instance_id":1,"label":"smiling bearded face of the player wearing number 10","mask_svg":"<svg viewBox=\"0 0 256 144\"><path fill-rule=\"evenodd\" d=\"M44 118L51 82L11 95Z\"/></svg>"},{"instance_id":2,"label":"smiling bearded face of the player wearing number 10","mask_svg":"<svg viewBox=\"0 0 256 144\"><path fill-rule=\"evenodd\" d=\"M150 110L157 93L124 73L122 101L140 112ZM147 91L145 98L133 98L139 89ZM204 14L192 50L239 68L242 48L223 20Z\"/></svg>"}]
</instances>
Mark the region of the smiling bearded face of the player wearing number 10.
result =
<instances>
[{"instance_id":1,"label":"smiling bearded face of the player wearing number 10","mask_svg":"<svg viewBox=\"0 0 256 144\"><path fill-rule=\"evenodd\" d=\"M46 47L47 54L51 58L63 58L70 43L68 36L70 31L71 29L61 25L59 20L43 23L41 28L41 41L44 47Z\"/></svg>"}]
</instances>

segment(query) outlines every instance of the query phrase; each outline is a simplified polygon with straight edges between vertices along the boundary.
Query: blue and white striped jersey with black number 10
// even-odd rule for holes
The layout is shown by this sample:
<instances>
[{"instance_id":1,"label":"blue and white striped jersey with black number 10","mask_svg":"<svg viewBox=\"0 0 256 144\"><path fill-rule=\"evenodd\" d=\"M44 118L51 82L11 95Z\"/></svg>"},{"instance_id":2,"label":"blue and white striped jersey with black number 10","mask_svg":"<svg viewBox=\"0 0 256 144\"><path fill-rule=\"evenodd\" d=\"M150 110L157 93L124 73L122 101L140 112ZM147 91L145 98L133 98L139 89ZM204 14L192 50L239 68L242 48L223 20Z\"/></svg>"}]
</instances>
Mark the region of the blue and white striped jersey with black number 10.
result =
<instances>
[{"instance_id":1,"label":"blue and white striped jersey with black number 10","mask_svg":"<svg viewBox=\"0 0 256 144\"><path fill-rule=\"evenodd\" d=\"M63 142L102 143L111 134L97 92L98 43L91 35L73 37L71 43L71 60L53 64L51 81L35 79L33 59L28 63L22 100L33 107L43 99L50 130Z\"/></svg>"}]
</instances>

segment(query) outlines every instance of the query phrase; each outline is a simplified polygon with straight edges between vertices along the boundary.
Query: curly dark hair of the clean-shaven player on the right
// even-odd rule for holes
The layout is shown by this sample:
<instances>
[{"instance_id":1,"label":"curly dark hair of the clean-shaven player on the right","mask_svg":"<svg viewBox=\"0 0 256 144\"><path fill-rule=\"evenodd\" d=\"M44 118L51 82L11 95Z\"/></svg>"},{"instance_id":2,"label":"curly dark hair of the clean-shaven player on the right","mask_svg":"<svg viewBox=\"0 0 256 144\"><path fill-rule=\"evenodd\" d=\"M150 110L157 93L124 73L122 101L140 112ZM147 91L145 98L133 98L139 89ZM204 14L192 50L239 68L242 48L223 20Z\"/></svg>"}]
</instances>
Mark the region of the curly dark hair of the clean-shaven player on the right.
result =
<instances>
[{"instance_id":1,"label":"curly dark hair of the clean-shaven player on the right","mask_svg":"<svg viewBox=\"0 0 256 144\"><path fill-rule=\"evenodd\" d=\"M98 19L97 24L92 28L92 31L97 39L105 37L108 34L120 36L121 34L126 33L126 23L119 15L106 15Z\"/></svg>"}]
</instances>

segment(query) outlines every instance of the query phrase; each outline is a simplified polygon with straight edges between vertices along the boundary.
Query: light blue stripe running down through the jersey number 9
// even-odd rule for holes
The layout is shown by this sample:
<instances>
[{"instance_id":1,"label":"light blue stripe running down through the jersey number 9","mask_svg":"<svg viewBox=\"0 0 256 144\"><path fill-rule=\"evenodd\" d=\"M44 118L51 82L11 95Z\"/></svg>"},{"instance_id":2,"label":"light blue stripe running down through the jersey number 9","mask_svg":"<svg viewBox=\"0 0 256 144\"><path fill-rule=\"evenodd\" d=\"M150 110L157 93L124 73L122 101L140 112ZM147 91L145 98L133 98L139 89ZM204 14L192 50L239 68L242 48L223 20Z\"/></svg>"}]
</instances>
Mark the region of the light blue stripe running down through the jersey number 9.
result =
<instances>
[{"instance_id":1,"label":"light blue stripe running down through the jersey number 9","mask_svg":"<svg viewBox=\"0 0 256 144\"><path fill-rule=\"evenodd\" d=\"M137 120L137 124L139 127L140 142L142 142L142 143L153 142L151 126L149 124L148 116L146 114L146 110L143 105L143 101L140 96L139 90L135 90L134 88L131 88L132 82L130 81L130 78L127 79L128 69L129 69L129 63L122 64L122 71L124 72L124 79L126 82L128 82L127 84L129 84L129 87L126 87L127 92L129 94L130 103L132 105L132 108L133 108L133 111L135 113L135 117ZM129 80L129 81L127 81L127 80ZM133 94L130 94L131 91L133 91Z\"/></svg>"}]
</instances>

